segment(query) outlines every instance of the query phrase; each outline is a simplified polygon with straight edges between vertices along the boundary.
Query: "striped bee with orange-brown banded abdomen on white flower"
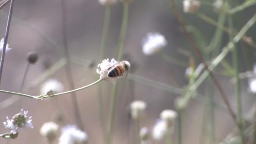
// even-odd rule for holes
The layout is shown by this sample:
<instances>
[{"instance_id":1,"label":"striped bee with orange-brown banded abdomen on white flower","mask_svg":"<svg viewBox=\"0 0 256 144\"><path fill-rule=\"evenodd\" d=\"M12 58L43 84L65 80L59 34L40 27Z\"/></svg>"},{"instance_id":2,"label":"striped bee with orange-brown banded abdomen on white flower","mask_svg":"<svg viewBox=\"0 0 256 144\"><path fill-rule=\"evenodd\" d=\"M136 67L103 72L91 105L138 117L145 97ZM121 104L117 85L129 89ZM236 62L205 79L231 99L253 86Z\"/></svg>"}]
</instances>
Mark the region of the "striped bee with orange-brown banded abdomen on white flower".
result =
<instances>
[{"instance_id":1,"label":"striped bee with orange-brown banded abdomen on white flower","mask_svg":"<svg viewBox=\"0 0 256 144\"><path fill-rule=\"evenodd\" d=\"M112 67L109 67L108 77L122 77L130 69L129 61L118 61Z\"/></svg>"}]
</instances>

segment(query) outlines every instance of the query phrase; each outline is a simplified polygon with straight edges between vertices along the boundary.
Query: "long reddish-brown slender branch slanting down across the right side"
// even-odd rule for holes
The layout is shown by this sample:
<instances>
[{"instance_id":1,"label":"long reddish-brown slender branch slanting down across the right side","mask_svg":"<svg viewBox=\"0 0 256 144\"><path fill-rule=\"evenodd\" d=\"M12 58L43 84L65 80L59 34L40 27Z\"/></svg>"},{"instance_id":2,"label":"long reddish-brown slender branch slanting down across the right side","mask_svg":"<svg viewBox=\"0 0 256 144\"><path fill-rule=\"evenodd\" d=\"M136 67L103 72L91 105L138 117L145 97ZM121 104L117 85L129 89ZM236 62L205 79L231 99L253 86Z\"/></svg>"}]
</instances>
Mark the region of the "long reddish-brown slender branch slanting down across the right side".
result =
<instances>
[{"instance_id":1,"label":"long reddish-brown slender branch slanting down across the right side","mask_svg":"<svg viewBox=\"0 0 256 144\"><path fill-rule=\"evenodd\" d=\"M183 29L186 37L188 38L189 40L189 43L192 45L192 47L194 48L194 51L195 53L197 53L197 56L198 58L200 59L200 61L204 64L205 66L205 69L209 72L209 75L210 77L212 78L213 80L213 83L216 85L216 87L218 88L221 96L222 96L222 99L224 100L226 106L228 107L228 110L229 110L229 114L232 116L232 119L234 121L235 124L237 124L237 121L236 121L236 115L235 115L235 112L233 111L231 105L229 104L229 100L227 98L227 95L226 93L223 91L223 89L221 88L221 86L219 85L219 82L216 80L215 76L212 74L212 72L208 69L208 65L205 63L204 59L203 59L203 56L202 54L200 53L199 51L199 48L197 48L197 45L195 44L194 40L192 39L192 37L190 36L190 34L187 32L187 29L185 27L185 24L183 22L183 20L181 19L181 16L179 15L179 12L176 10L176 6L175 6L175 3L173 0L170 0L171 2L171 6L173 8L173 11L174 13L176 14L177 18L178 18L178 21L179 23L181 24L181 28Z\"/></svg>"}]
</instances>

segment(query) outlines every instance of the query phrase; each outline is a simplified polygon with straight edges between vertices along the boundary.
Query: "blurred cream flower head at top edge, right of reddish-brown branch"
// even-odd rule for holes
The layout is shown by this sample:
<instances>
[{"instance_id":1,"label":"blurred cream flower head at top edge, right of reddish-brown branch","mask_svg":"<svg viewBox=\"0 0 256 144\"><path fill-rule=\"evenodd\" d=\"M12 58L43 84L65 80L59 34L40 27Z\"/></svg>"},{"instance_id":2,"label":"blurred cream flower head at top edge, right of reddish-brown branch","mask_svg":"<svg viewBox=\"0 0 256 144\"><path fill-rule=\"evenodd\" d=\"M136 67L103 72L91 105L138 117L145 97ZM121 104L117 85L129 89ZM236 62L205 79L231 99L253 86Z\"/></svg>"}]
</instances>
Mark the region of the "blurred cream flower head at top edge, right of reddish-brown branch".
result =
<instances>
[{"instance_id":1,"label":"blurred cream flower head at top edge, right of reddish-brown branch","mask_svg":"<svg viewBox=\"0 0 256 144\"><path fill-rule=\"evenodd\" d=\"M184 13L195 13L200 5L200 1L197 0L183 0L183 11Z\"/></svg>"}]
</instances>

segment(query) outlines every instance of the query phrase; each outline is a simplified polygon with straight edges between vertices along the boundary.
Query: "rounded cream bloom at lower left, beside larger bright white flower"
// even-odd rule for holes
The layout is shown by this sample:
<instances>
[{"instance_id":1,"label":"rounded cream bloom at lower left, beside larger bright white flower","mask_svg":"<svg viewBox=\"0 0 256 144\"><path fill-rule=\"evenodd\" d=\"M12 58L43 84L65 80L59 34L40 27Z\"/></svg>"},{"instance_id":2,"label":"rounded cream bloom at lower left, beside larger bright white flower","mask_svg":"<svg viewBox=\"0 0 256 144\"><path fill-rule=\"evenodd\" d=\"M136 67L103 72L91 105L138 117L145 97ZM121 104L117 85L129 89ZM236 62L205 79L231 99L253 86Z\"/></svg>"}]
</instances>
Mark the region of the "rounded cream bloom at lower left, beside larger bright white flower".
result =
<instances>
[{"instance_id":1,"label":"rounded cream bloom at lower left, beside larger bright white flower","mask_svg":"<svg viewBox=\"0 0 256 144\"><path fill-rule=\"evenodd\" d=\"M40 128L40 133L45 137L50 143L52 143L57 136L59 125L53 122L47 122Z\"/></svg>"}]
</instances>

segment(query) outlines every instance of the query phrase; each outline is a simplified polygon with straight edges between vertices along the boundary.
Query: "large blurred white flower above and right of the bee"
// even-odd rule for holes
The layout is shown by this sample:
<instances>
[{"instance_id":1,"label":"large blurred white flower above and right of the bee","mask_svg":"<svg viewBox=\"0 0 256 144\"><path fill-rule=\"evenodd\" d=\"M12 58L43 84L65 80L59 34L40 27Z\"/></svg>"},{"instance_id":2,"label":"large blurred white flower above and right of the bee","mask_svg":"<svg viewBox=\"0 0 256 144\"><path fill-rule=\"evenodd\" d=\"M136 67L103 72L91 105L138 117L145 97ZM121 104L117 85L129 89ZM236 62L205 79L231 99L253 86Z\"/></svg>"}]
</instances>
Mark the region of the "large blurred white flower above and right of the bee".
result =
<instances>
[{"instance_id":1,"label":"large blurred white flower above and right of the bee","mask_svg":"<svg viewBox=\"0 0 256 144\"><path fill-rule=\"evenodd\" d=\"M161 51L167 45L165 37L160 33L148 33L142 42L142 51L145 55L152 55Z\"/></svg>"}]
</instances>

